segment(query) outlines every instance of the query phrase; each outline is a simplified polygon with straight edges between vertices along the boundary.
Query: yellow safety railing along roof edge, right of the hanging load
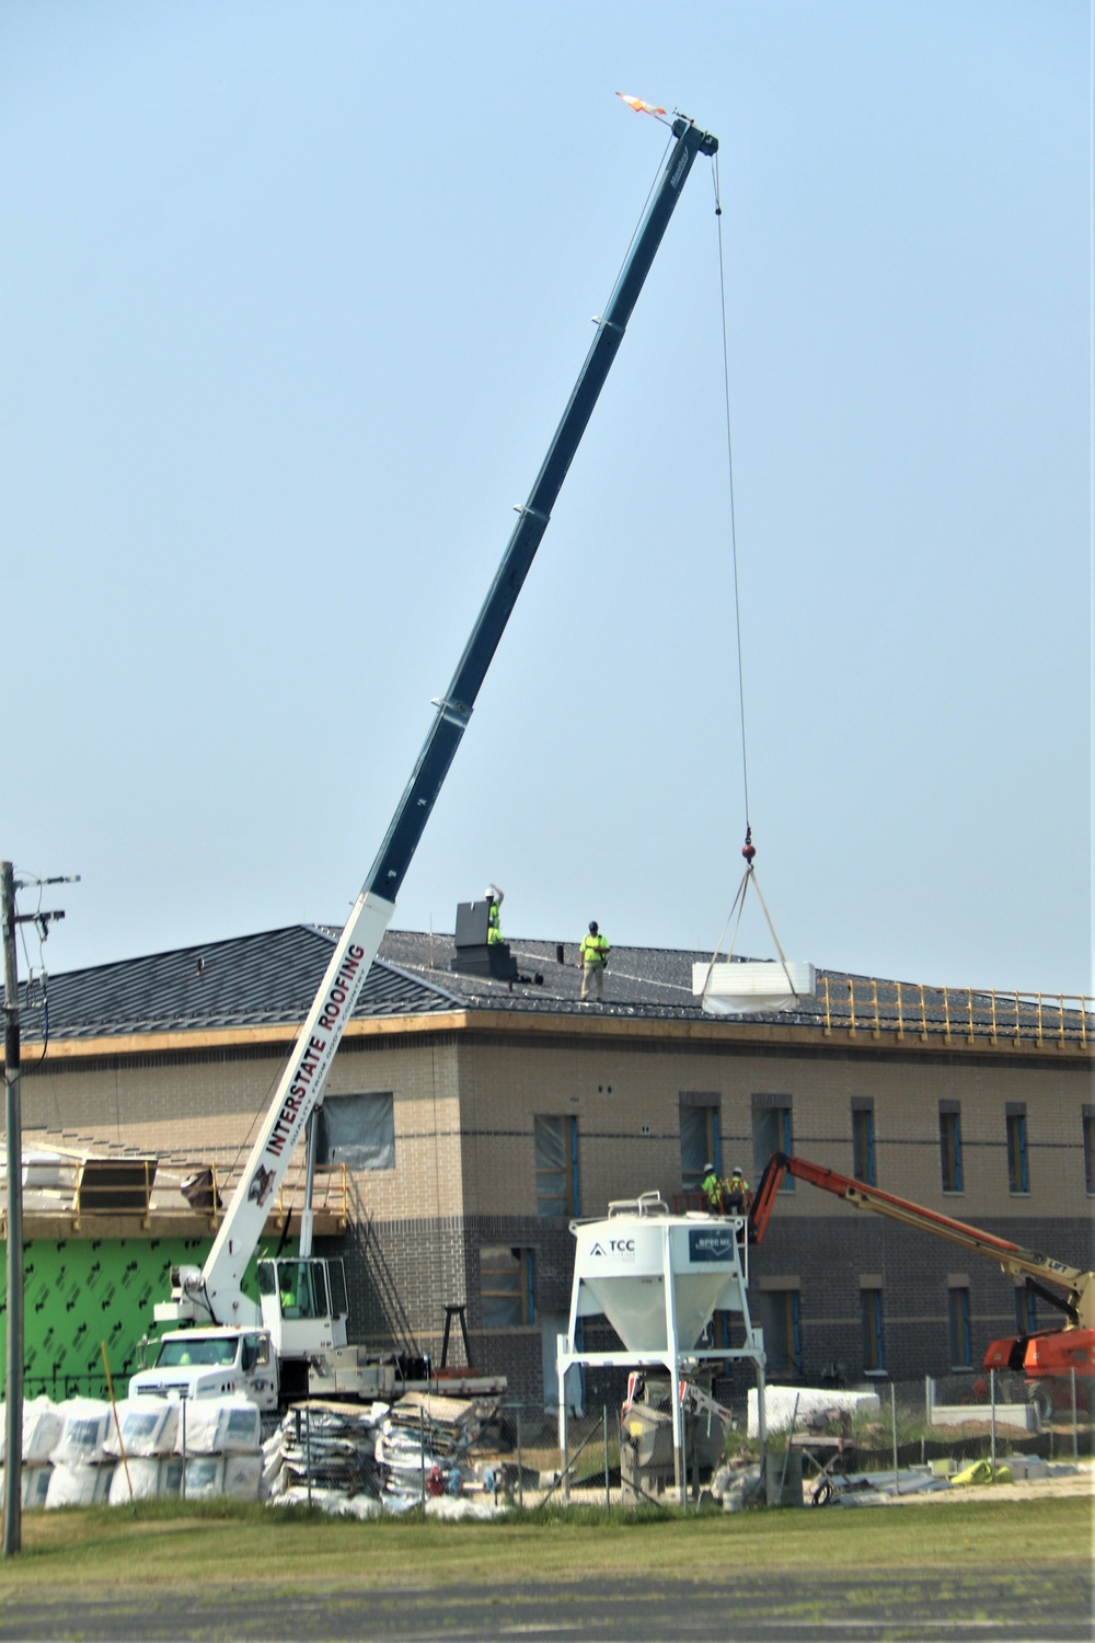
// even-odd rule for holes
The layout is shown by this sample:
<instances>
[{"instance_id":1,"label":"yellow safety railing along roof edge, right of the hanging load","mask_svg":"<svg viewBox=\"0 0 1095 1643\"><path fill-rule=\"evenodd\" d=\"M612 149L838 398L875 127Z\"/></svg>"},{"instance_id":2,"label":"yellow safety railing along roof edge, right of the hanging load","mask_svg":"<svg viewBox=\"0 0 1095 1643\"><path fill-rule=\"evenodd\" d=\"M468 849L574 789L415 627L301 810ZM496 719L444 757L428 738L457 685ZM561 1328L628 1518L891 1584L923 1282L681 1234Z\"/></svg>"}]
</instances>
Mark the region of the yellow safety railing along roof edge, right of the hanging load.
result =
<instances>
[{"instance_id":1,"label":"yellow safety railing along roof edge, right of the hanging load","mask_svg":"<svg viewBox=\"0 0 1095 1643\"><path fill-rule=\"evenodd\" d=\"M944 1043L1031 1043L1087 1050L1095 1033L1095 1001L1080 992L996 992L928 987L868 976L819 976L824 1033L849 1038L941 1038Z\"/></svg>"}]
</instances>

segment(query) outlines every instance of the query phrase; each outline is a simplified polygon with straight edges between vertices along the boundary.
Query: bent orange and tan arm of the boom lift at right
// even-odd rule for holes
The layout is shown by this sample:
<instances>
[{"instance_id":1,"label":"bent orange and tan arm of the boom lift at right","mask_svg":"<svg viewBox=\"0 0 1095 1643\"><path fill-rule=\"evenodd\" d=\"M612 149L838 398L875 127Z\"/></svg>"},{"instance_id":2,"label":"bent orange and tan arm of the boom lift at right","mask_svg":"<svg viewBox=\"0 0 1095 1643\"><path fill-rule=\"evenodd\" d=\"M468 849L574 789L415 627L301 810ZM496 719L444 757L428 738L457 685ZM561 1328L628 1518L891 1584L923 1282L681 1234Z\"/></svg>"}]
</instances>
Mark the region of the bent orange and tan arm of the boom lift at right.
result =
<instances>
[{"instance_id":1,"label":"bent orange and tan arm of the boom lift at right","mask_svg":"<svg viewBox=\"0 0 1095 1643\"><path fill-rule=\"evenodd\" d=\"M1065 1313L1069 1328L1095 1329L1095 1282L1090 1272L1082 1272L1079 1267L1065 1267L1064 1262L1054 1260L1052 1255L1044 1255L1041 1250L1023 1249L1008 1239L970 1227L964 1221L952 1221L951 1216L942 1216L936 1209L926 1209L908 1198L883 1193L878 1186L868 1186L865 1181L855 1181L849 1175L839 1175L821 1163L811 1163L809 1158L790 1158L781 1152L775 1152L768 1158L749 1213L750 1244L758 1244L765 1236L775 1194L780 1191L785 1175L793 1175L799 1181L809 1181L811 1186L819 1186L824 1193L832 1193L857 1209L870 1209L875 1214L888 1216L890 1221L901 1221L905 1226L916 1227L919 1232L931 1232L934 1237L947 1239L951 1244L972 1250L975 1255L987 1255L1003 1272L1016 1278L1026 1278L1042 1300ZM1054 1285L1054 1288L1046 1288L1046 1285Z\"/></svg>"}]
</instances>

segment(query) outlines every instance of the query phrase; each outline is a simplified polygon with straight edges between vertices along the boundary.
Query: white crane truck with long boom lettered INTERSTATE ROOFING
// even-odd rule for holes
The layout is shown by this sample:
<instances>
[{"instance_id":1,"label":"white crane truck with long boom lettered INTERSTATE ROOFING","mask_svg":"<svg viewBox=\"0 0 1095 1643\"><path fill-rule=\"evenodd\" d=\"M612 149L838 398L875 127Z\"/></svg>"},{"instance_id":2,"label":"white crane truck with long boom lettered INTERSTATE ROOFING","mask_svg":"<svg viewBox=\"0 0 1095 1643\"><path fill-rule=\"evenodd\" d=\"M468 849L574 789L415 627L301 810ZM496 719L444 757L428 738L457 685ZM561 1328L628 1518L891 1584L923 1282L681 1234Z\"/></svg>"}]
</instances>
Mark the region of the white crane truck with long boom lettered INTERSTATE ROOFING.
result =
<instances>
[{"instance_id":1,"label":"white crane truck with long boom lettered INTERSTATE ROOFING","mask_svg":"<svg viewBox=\"0 0 1095 1643\"><path fill-rule=\"evenodd\" d=\"M714 156L717 138L685 115L671 120L668 150L640 227L578 373L573 393L540 473L502 555L486 601L435 718L410 780L396 807L379 853L338 938L294 1050L243 1167L240 1186L205 1263L172 1267L171 1300L154 1308L158 1324L186 1326L159 1337L151 1369L130 1392L207 1397L241 1390L261 1408L307 1392L309 1365L327 1385L376 1395L387 1390L381 1369L348 1346L346 1282L340 1260L312 1257L312 1217L300 1219L294 1260L258 1265L259 1300L245 1295L243 1277L258 1249L271 1201L296 1147L323 1099L323 1086L343 1029L356 1007L396 895L468 726L476 695L502 637L517 595L552 518L601 388L619 352L632 309L662 243L670 217L699 154ZM314 1129L309 1130L312 1145Z\"/></svg>"}]
</instances>

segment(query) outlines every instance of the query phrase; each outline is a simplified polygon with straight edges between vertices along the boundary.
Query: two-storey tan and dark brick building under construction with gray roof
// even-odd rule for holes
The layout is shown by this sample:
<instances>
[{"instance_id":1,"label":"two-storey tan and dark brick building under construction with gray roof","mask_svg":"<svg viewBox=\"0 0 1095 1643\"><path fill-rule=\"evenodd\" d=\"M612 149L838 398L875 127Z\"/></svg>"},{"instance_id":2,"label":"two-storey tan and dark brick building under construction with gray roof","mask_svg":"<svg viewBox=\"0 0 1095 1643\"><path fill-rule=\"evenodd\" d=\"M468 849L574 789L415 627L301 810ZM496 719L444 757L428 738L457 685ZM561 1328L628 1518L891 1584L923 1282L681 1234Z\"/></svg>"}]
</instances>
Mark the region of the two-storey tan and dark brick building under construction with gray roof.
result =
<instances>
[{"instance_id":1,"label":"two-storey tan and dark brick building under construction with gray roof","mask_svg":"<svg viewBox=\"0 0 1095 1643\"><path fill-rule=\"evenodd\" d=\"M97 1388L103 1337L118 1375L135 1367L171 1265L217 1232L335 938L296 925L56 976L48 1032L21 989L30 1395ZM616 946L583 1004L573 943L384 937L315 1137L317 1249L346 1260L351 1341L470 1357L550 1406L570 1221L650 1190L698 1206L711 1167L755 1183L773 1152L1092 1265L1090 1001L819 969L790 1010L712 1017L693 992L708 956ZM269 1249L299 1231L299 1153ZM974 1370L1041 1306L790 1176L750 1282L777 1380Z\"/></svg>"}]
</instances>

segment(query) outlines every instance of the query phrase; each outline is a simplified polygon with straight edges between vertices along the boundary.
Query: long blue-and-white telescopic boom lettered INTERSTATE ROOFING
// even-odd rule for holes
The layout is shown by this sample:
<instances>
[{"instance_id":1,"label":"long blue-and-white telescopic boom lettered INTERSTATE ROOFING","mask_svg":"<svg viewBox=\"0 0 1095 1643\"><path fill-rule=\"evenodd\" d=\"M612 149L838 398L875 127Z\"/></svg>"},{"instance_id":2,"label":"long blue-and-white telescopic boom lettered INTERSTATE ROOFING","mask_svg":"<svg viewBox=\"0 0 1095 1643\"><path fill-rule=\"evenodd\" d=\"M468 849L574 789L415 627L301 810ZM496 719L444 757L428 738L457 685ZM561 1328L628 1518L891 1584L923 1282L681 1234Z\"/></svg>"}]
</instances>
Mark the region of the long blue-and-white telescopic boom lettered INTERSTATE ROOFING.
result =
<instances>
[{"instance_id":1,"label":"long blue-and-white telescopic boom lettered INTERSTATE ROOFING","mask_svg":"<svg viewBox=\"0 0 1095 1643\"><path fill-rule=\"evenodd\" d=\"M396 895L468 726L476 695L491 665L506 623L552 518L570 463L578 450L601 388L612 366L632 309L650 271L662 237L698 154L714 154L717 138L683 117L673 120L675 143L624 261L616 288L596 322L598 330L575 383L563 419L543 458L529 501L502 555L497 575L447 693L425 738L410 782L369 869L361 894L332 953L315 1002L300 1029L292 1056L266 1112L205 1267L172 1273L171 1303L156 1306L161 1323L197 1321L250 1324L258 1308L241 1290L248 1260L258 1247L273 1194L323 1086L381 938L396 910Z\"/></svg>"}]
</instances>

